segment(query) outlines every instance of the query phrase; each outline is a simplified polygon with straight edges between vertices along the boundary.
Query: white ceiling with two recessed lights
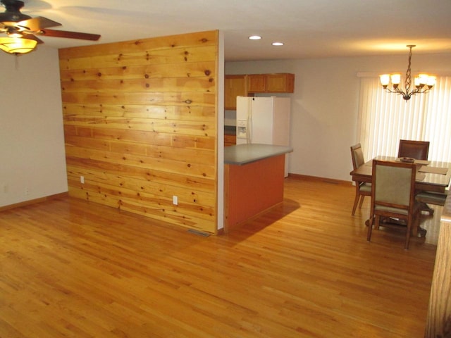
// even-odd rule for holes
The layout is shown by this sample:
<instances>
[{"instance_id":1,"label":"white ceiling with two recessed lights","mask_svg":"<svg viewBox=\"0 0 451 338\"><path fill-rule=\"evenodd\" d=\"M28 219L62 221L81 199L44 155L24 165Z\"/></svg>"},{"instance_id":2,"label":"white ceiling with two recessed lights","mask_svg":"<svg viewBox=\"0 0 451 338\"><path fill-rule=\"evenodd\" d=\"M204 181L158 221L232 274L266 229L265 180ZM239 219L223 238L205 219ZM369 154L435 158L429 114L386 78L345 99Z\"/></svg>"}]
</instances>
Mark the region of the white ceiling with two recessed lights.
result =
<instances>
[{"instance_id":1,"label":"white ceiling with two recessed lights","mask_svg":"<svg viewBox=\"0 0 451 338\"><path fill-rule=\"evenodd\" d=\"M55 48L221 30L226 61L407 54L407 44L451 54L451 0L23 1L23 13L62 24L54 29L101 35L39 37Z\"/></svg>"}]
</instances>

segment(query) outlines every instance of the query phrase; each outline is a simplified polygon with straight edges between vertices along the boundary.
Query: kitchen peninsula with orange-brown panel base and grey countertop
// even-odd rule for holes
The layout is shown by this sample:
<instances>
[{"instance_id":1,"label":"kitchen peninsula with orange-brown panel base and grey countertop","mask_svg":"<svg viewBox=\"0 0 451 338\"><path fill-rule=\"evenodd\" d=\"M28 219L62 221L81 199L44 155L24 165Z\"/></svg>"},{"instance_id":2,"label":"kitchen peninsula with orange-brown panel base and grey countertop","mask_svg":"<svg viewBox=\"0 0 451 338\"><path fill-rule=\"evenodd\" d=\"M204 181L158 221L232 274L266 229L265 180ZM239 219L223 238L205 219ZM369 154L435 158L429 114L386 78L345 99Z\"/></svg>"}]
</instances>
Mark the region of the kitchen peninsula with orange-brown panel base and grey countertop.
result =
<instances>
[{"instance_id":1,"label":"kitchen peninsula with orange-brown panel base and grey countertop","mask_svg":"<svg viewBox=\"0 0 451 338\"><path fill-rule=\"evenodd\" d=\"M283 201L289 146L238 144L224 148L224 231Z\"/></svg>"}]
</instances>

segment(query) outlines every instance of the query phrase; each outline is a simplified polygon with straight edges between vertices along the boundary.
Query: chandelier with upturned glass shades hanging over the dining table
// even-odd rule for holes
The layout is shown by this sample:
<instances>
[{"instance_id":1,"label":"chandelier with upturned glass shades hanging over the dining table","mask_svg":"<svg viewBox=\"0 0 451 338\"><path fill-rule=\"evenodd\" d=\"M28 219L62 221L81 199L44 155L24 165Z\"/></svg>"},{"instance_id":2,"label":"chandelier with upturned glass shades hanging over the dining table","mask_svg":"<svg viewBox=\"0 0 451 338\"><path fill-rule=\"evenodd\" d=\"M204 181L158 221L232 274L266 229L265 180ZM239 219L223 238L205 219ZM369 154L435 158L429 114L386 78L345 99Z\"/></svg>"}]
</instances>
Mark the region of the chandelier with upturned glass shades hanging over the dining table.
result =
<instances>
[{"instance_id":1,"label":"chandelier with upturned glass shades hanging over the dining table","mask_svg":"<svg viewBox=\"0 0 451 338\"><path fill-rule=\"evenodd\" d=\"M402 99L409 100L412 95L415 94L423 94L432 89L435 84L435 76L427 75L427 74L419 74L414 78L414 89L411 91L412 87L412 76L410 65L412 63L412 48L414 48L414 44L408 44L409 47L409 66L407 67L406 78L404 81L404 90L400 89L401 82L401 74L383 74L380 75L381 84L383 89L387 92L400 94ZM388 87L388 84L392 83L393 89Z\"/></svg>"}]
</instances>

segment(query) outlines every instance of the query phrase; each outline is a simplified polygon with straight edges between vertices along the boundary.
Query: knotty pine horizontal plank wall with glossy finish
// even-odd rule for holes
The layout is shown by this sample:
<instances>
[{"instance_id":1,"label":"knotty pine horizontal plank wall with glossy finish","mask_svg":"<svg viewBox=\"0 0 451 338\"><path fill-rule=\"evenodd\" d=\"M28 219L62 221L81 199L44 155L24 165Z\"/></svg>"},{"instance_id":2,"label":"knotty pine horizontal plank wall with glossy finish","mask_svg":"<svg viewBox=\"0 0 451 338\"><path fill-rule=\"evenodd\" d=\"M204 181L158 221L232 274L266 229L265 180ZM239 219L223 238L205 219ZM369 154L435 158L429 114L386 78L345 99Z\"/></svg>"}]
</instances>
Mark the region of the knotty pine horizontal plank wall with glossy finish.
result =
<instances>
[{"instance_id":1,"label":"knotty pine horizontal plank wall with glossy finish","mask_svg":"<svg viewBox=\"0 0 451 338\"><path fill-rule=\"evenodd\" d=\"M59 62L70 196L216 233L218 32L61 49Z\"/></svg>"}]
</instances>

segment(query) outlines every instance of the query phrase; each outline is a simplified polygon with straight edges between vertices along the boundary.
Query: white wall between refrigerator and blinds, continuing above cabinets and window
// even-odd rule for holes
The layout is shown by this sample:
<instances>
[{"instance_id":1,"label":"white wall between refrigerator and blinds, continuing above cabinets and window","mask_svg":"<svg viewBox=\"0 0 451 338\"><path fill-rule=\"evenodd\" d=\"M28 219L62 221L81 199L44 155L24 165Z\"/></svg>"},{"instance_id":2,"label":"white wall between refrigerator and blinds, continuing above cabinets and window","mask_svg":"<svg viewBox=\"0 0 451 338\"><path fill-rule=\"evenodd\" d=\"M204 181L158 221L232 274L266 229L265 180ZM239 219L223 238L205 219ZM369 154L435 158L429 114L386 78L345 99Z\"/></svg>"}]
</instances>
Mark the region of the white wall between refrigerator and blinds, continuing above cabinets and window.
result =
<instances>
[{"instance_id":1,"label":"white wall between refrigerator and blinds, continuing above cabinets and window","mask_svg":"<svg viewBox=\"0 0 451 338\"><path fill-rule=\"evenodd\" d=\"M350 146L359 142L357 73L405 73L407 56L408 50L405 56L226 62L225 69L227 75L295 73L295 93L288 94L294 148L290 173L350 181ZM414 54L412 71L451 75L451 54Z\"/></svg>"}]
</instances>

